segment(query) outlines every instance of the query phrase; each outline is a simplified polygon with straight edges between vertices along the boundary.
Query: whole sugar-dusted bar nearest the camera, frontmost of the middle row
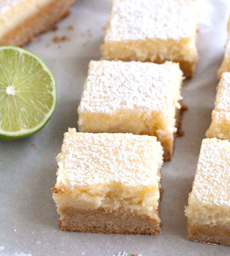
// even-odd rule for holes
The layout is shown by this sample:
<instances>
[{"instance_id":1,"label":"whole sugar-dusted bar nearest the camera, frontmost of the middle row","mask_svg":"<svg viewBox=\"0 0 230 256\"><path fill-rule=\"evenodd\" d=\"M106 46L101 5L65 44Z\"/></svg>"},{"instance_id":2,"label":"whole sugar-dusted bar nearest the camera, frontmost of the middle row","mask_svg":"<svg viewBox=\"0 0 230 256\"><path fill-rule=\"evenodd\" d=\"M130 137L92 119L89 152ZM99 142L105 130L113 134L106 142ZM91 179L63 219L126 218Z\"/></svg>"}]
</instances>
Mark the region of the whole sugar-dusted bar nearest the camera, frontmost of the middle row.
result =
<instances>
[{"instance_id":1,"label":"whole sugar-dusted bar nearest the camera, frontmost of the middle row","mask_svg":"<svg viewBox=\"0 0 230 256\"><path fill-rule=\"evenodd\" d=\"M123 133L64 134L52 189L62 230L160 232L163 150L156 137Z\"/></svg>"}]
</instances>

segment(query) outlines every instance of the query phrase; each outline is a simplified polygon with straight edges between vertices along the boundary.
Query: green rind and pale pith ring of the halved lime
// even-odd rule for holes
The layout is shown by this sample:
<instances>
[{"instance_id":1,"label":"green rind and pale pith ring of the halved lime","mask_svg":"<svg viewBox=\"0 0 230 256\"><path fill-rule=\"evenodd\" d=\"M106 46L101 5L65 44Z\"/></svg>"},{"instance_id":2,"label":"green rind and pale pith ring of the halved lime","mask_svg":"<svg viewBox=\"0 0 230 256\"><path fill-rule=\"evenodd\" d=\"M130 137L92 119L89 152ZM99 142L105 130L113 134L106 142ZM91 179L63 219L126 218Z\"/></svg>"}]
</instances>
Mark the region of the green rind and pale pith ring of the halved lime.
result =
<instances>
[{"instance_id":1,"label":"green rind and pale pith ring of the halved lime","mask_svg":"<svg viewBox=\"0 0 230 256\"><path fill-rule=\"evenodd\" d=\"M52 91L49 91L50 95L52 96L52 105L49 107L49 111L44 115L43 120L38 125L34 126L33 128L20 129L18 131L6 131L0 128L0 139L8 139L8 140L19 139L39 131L41 128L45 126L45 124L49 121L49 119L53 115L57 105L56 81L54 79L53 74L47 67L47 65L34 53L16 46L0 46L0 52L3 50L13 50L18 52L19 54L27 54L30 57L32 56L36 60L36 62L41 65L45 73L48 74L49 79L51 80L52 89L53 89Z\"/></svg>"}]
</instances>

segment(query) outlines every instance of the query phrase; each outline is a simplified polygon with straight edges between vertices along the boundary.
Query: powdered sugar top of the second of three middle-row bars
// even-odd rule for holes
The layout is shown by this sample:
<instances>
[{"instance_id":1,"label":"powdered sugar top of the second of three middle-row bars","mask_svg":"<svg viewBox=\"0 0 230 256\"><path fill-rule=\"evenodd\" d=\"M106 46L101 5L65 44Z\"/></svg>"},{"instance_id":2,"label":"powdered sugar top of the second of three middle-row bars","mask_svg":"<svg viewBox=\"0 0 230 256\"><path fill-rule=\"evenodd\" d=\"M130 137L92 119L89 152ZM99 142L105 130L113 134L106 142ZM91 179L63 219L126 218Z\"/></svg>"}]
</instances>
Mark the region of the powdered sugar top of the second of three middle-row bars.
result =
<instances>
[{"instance_id":1,"label":"powdered sugar top of the second of three middle-row bars","mask_svg":"<svg viewBox=\"0 0 230 256\"><path fill-rule=\"evenodd\" d=\"M91 61L80 111L111 114L139 108L172 114L180 107L182 72L179 65L136 61Z\"/></svg>"}]
</instances>

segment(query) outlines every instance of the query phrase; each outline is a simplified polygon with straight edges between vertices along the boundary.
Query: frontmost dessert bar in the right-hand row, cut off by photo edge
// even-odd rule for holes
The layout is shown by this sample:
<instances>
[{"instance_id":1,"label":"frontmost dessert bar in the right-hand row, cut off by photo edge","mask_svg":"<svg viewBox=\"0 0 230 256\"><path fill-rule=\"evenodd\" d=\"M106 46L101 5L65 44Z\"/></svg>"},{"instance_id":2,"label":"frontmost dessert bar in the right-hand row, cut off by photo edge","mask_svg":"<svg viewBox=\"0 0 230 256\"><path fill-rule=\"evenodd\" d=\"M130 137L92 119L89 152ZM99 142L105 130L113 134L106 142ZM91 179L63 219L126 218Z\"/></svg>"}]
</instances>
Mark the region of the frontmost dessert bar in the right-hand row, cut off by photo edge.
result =
<instances>
[{"instance_id":1,"label":"frontmost dessert bar in the right-hand row, cut off by photo edge","mask_svg":"<svg viewBox=\"0 0 230 256\"><path fill-rule=\"evenodd\" d=\"M230 245L230 142L202 141L185 210L188 239Z\"/></svg>"}]
</instances>

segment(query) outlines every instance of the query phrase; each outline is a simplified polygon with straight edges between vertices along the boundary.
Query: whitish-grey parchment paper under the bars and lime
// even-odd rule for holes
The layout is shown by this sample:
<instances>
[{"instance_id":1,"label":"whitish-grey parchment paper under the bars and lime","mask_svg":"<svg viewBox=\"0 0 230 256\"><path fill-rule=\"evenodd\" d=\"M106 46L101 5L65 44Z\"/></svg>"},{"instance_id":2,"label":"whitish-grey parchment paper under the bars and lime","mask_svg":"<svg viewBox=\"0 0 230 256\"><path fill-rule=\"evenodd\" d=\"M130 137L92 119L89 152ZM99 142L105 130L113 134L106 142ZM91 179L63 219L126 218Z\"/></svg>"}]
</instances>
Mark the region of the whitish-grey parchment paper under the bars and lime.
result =
<instances>
[{"instance_id":1,"label":"whitish-grey parchment paper under the bars and lime","mask_svg":"<svg viewBox=\"0 0 230 256\"><path fill-rule=\"evenodd\" d=\"M171 162L162 168L161 233L157 236L64 232L50 188L56 182L56 155L63 133L77 127L77 107L87 66L99 59L109 0L78 0L57 31L36 38L25 48L40 56L53 72L58 104L48 124L17 141L0 141L0 255L230 255L226 246L186 239L184 206L194 180L201 140L211 122L218 84L216 71L224 53L228 0L201 0L196 75L184 81L189 106L185 135L177 138ZM72 25L74 30L69 30ZM70 41L54 43L54 36ZM35 147L32 146L35 144ZM3 247L4 249L3 249Z\"/></svg>"}]
</instances>

